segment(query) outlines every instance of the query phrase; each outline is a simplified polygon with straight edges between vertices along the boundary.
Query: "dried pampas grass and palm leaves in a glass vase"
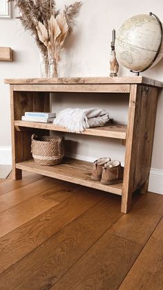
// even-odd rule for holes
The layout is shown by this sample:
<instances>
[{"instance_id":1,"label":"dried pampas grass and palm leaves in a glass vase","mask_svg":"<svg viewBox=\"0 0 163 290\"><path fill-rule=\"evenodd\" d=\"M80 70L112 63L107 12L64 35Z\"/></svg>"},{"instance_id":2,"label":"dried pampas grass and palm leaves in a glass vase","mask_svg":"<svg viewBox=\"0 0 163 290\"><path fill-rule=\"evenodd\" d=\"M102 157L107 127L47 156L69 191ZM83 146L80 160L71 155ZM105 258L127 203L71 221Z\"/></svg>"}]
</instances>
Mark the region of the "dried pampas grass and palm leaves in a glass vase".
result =
<instances>
[{"instance_id":1,"label":"dried pampas grass and palm leaves in a glass vase","mask_svg":"<svg viewBox=\"0 0 163 290\"><path fill-rule=\"evenodd\" d=\"M14 1L14 0L9 0ZM81 1L64 10L56 9L55 0L15 0L23 28L35 38L44 59L44 78L57 78L60 51L67 35L73 30Z\"/></svg>"}]
</instances>

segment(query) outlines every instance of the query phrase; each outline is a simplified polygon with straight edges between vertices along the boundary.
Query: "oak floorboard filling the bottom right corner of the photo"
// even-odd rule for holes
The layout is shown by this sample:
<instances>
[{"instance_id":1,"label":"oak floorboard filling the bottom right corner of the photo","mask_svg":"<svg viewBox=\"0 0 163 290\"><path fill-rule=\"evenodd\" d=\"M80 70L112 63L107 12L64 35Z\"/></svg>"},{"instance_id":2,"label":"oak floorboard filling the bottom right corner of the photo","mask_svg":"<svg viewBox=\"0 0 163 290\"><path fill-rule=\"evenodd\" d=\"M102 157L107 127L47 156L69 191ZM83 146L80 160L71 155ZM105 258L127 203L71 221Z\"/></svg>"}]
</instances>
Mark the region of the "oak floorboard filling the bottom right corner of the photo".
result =
<instances>
[{"instance_id":1,"label":"oak floorboard filling the bottom right corner of the photo","mask_svg":"<svg viewBox=\"0 0 163 290\"><path fill-rule=\"evenodd\" d=\"M163 289L163 219L122 282L119 290Z\"/></svg>"}]
</instances>

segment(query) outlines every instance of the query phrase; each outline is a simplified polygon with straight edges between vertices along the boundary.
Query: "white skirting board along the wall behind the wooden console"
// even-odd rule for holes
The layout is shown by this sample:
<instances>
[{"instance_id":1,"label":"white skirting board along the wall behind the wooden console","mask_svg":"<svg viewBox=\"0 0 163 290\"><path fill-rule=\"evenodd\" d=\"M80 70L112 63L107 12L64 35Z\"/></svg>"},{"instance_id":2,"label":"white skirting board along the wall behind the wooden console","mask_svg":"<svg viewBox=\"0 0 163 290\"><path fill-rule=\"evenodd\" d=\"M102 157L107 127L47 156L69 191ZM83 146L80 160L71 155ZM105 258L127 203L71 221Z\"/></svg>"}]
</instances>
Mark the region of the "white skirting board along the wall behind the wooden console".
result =
<instances>
[{"instance_id":1,"label":"white skirting board along the wall behind the wooden console","mask_svg":"<svg viewBox=\"0 0 163 290\"><path fill-rule=\"evenodd\" d=\"M96 157L79 154L66 154L66 156L88 162L93 162L97 159ZM10 165L11 163L11 147L0 146L0 165ZM163 170L151 168L148 191L163 194Z\"/></svg>"}]
</instances>

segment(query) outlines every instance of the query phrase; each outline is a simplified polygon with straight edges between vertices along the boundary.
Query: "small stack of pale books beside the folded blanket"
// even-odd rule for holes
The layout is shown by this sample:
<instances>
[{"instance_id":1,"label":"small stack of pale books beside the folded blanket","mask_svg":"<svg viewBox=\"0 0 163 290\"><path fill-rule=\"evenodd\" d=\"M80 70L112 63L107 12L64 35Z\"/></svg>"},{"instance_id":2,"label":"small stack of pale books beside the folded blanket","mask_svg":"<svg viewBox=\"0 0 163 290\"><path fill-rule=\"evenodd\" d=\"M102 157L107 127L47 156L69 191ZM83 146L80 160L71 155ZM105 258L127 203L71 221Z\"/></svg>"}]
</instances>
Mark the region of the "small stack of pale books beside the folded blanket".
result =
<instances>
[{"instance_id":1,"label":"small stack of pale books beside the folded blanket","mask_svg":"<svg viewBox=\"0 0 163 290\"><path fill-rule=\"evenodd\" d=\"M52 123L55 117L55 113L26 111L25 115L21 117L21 120L40 123Z\"/></svg>"}]
</instances>

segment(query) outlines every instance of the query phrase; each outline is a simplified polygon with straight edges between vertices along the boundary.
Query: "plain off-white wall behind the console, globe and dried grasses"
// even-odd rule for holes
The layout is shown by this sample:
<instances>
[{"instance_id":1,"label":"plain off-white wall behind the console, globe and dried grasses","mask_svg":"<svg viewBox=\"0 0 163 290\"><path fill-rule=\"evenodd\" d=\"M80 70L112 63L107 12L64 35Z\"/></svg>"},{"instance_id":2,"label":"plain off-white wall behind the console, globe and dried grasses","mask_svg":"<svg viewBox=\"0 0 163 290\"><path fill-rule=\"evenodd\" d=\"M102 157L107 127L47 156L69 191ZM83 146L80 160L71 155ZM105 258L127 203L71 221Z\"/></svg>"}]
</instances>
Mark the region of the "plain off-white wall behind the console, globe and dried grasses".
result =
<instances>
[{"instance_id":1,"label":"plain off-white wall behind the console, globe and dried grasses","mask_svg":"<svg viewBox=\"0 0 163 290\"><path fill-rule=\"evenodd\" d=\"M64 3L72 3L73 0L57 0L59 6ZM122 23L133 15L153 12L163 20L162 0L137 0L137 1L108 1L108 0L84 0L77 26L73 34L66 40L66 50L62 53L62 62L59 66L59 76L108 76L111 30L116 30ZM3 78L30 78L39 77L39 52L28 33L23 32L23 28L17 19L0 19L1 46L10 46L15 51L15 62L0 62L0 147L10 146L10 100L8 86L3 84ZM144 72L151 78L163 81L163 60L153 69ZM119 69L120 76L132 75L122 66ZM123 100L122 100L123 98ZM115 102L115 107L114 107ZM108 98L101 98L97 95L88 97L65 96L58 94L55 96L55 109L71 107L92 107L99 105L108 109L115 120L126 123L127 120L127 96L113 95ZM53 102L54 104L54 102ZM157 120L155 127L155 140L153 147L152 167L163 170L163 91L160 93L157 107ZM118 158L124 161L124 147L119 141L112 141L103 138L73 136L68 139L73 140L73 152L82 156L104 156ZM78 141L78 145L77 145ZM70 143L71 144L71 143ZM71 152L72 146L68 147ZM158 172L158 171L157 171ZM156 182L157 183L157 182ZM162 192L163 192L163 185Z\"/></svg>"}]
</instances>

